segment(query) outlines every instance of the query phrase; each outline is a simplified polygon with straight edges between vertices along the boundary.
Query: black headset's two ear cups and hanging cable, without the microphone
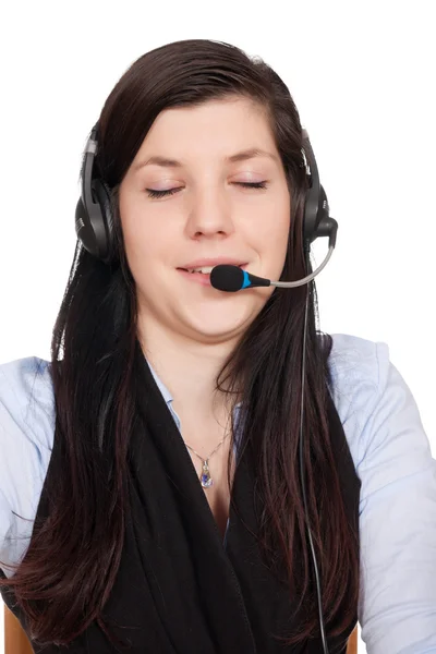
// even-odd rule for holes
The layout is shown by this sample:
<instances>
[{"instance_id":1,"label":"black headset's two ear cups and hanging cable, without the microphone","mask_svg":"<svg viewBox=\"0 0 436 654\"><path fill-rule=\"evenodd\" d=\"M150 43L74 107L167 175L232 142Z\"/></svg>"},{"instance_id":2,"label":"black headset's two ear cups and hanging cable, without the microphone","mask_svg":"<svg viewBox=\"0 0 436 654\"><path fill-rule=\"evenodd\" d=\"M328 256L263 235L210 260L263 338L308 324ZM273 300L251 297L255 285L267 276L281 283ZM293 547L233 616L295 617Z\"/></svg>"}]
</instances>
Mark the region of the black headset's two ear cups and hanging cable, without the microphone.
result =
<instances>
[{"instance_id":1,"label":"black headset's two ear cups and hanging cable, without the microphone","mask_svg":"<svg viewBox=\"0 0 436 654\"><path fill-rule=\"evenodd\" d=\"M98 147L98 122L94 125L88 142L84 150L84 161L82 166L81 182L82 195L78 198L75 209L75 231L77 239L89 254L106 264L110 264L113 255L113 215L110 201L110 190L102 179L94 175L94 158ZM319 183L318 168L316 166L315 156L308 140L308 134L303 129L303 149L306 175L310 182L310 187L306 191L304 202L304 218L303 218L303 242L306 261L310 254L310 246L318 237L329 238L329 255L319 266L318 271L324 268L336 244L336 233L338 223L329 216L329 206L326 193ZM307 170L308 165L308 170ZM315 271L316 274L316 271ZM313 274L313 276L315 275ZM308 281L308 280L307 280ZM306 293L304 334L302 346L302 388L304 389L305 379L305 363L306 363L306 336L307 336L307 311L308 311L308 292ZM306 530L311 546L312 559L314 562L315 583L318 597L318 617L319 628L323 641L324 654L328 654L327 640L325 635L323 607L322 607L322 591L316 561L316 554L313 544L312 532L308 521L307 497L304 476L304 458L303 458L303 422L304 422L304 397L302 392L301 412L300 412L300 472L301 485L303 491L303 501L306 514Z\"/></svg>"}]
</instances>

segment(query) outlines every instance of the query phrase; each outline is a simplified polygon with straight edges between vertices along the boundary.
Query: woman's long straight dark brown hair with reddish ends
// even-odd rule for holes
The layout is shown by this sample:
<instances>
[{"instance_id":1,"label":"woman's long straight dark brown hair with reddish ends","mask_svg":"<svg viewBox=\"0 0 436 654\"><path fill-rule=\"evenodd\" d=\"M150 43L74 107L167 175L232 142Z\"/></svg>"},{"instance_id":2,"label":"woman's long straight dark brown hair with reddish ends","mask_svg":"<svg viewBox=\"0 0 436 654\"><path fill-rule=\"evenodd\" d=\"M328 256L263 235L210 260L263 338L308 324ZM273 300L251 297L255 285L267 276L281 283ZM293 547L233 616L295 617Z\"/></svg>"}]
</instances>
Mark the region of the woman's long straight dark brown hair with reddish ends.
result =
<instances>
[{"instance_id":1,"label":"woman's long straight dark brown hair with reddish ends","mask_svg":"<svg viewBox=\"0 0 436 654\"><path fill-rule=\"evenodd\" d=\"M126 452L135 411L132 365L137 306L123 247L119 185L160 111L232 95L251 98L265 109L286 171L292 215L281 278L299 279L310 271L302 239L307 187L302 128L286 84L261 58L249 58L221 41L177 41L137 59L116 84L99 117L95 164L111 189L113 263L102 264L77 243L52 334L55 438L62 444L62 457L51 462L52 474L47 480L50 516L35 521L23 561L11 579L1 581L14 590L31 632L41 644L68 644L95 619L107 633L100 614L123 547ZM276 289L217 379L217 386L226 379L228 389L243 379L241 438L246 443L250 437L256 452L256 475L265 501L265 556L272 561L280 554L291 592L300 594L307 616L289 644L318 630L298 457L307 292L307 501L325 623L327 633L336 635L353 619L359 554L329 443L326 393L331 337L316 329L314 282L292 290ZM109 458L99 453L100 439L108 444ZM322 520L322 514L328 520ZM293 559L296 542L304 554L302 571L295 569ZM332 629L335 611L344 604L350 608Z\"/></svg>"}]
</instances>

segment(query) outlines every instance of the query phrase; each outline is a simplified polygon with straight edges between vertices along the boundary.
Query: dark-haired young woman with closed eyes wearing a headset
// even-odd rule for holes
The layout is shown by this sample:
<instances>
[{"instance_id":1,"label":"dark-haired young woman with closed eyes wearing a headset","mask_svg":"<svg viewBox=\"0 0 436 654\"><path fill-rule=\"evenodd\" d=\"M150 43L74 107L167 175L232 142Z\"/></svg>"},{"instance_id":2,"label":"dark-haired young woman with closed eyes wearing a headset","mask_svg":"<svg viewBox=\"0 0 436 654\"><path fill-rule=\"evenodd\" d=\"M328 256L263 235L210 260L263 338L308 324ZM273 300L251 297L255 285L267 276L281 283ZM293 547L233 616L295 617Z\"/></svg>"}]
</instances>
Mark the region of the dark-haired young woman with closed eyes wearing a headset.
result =
<instances>
[{"instance_id":1,"label":"dark-haired young woman with closed eyes wearing a headset","mask_svg":"<svg viewBox=\"0 0 436 654\"><path fill-rule=\"evenodd\" d=\"M146 53L82 183L51 361L0 366L0 588L35 652L339 653L358 618L370 654L436 652L435 460L388 347L316 328L336 223L283 82Z\"/></svg>"}]
</instances>

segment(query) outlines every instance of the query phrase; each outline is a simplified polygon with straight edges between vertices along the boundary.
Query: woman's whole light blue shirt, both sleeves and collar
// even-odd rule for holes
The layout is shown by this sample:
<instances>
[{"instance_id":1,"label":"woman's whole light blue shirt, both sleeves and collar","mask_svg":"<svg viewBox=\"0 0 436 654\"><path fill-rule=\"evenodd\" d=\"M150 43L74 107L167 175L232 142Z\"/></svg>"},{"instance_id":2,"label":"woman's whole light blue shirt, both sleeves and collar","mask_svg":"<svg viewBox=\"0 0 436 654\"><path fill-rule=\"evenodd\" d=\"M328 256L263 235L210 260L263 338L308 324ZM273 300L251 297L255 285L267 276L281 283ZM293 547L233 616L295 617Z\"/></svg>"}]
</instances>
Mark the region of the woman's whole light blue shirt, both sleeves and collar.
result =
<instances>
[{"instance_id":1,"label":"woman's whole light blue shirt, both sleeves and collar","mask_svg":"<svg viewBox=\"0 0 436 654\"><path fill-rule=\"evenodd\" d=\"M331 393L362 482L361 635L368 654L436 654L436 460L388 346L332 336ZM48 365L36 356L0 365L5 562L19 562L26 552L50 460L55 404ZM155 379L180 427L170 392Z\"/></svg>"}]
</instances>

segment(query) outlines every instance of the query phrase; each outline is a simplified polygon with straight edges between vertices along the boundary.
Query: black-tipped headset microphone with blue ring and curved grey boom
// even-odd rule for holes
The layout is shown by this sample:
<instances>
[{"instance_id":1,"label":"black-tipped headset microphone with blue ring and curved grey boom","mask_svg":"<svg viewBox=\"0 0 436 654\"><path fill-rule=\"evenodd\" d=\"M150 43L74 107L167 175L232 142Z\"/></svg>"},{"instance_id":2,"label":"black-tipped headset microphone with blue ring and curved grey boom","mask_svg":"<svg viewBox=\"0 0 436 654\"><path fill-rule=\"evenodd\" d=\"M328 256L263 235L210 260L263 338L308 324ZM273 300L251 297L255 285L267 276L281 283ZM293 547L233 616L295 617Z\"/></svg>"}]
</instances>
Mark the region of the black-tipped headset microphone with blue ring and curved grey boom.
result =
<instances>
[{"instance_id":1,"label":"black-tipped headset microphone with blue ring and curved grey boom","mask_svg":"<svg viewBox=\"0 0 436 654\"><path fill-rule=\"evenodd\" d=\"M218 291L227 291L229 293L234 293L235 291L241 291L242 289L252 289L254 287L268 287L275 286L282 289L293 289L299 286L303 286L311 281L314 277L316 277L323 268L328 264L330 256L335 250L335 245L330 245L328 249L328 253L326 258L320 264L318 268L311 275L303 277L303 279L298 279L296 281L271 281L270 279L265 279L265 277L256 277L256 275L251 275L246 270L242 270L238 266L230 266L227 264L220 264L219 266L215 266L210 271L210 283Z\"/></svg>"}]
</instances>

